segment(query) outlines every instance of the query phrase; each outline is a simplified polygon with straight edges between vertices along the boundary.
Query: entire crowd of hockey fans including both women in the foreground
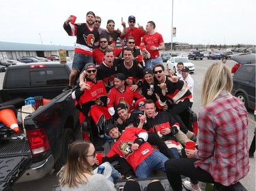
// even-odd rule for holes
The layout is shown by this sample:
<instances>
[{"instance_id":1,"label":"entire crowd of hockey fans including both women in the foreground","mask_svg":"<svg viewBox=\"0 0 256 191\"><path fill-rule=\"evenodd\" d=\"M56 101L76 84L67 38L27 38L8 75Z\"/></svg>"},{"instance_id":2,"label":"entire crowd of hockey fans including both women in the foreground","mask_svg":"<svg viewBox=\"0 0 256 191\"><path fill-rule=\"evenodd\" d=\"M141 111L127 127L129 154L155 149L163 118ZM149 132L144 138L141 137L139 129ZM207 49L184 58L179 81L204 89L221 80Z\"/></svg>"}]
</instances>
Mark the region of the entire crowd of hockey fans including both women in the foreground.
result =
<instances>
[{"instance_id":1,"label":"entire crowd of hockey fans including both women in the foreground","mask_svg":"<svg viewBox=\"0 0 256 191\"><path fill-rule=\"evenodd\" d=\"M71 20L69 17L63 25L69 35L77 38L68 88L81 73L79 85L72 92L81 111L81 122L91 117L99 137L115 140L103 162L118 160L127 179L147 178L154 170L163 171L173 190L179 191L180 175L190 177L191 181L183 184L194 191L201 190L198 181L221 188L236 184L248 173L248 114L243 103L230 94L233 82L226 65L214 63L205 73L196 137L180 118L193 105L193 79L186 67L180 67L177 74L168 69L165 75L158 52L165 48L164 41L154 31L154 22L147 22L145 30L139 26L136 32L135 17L129 16L129 28L122 22L121 32L113 29L113 20L108 20L105 31L100 29L101 19L94 12L87 12L86 23L72 24ZM109 35L101 36L104 32ZM127 37L126 48L115 48L116 36ZM94 49L96 41L98 50ZM135 45L140 46L137 53ZM94 55L96 50L98 54ZM123 58L117 58L120 53ZM139 54L145 66L138 59ZM110 119L114 122L107 123ZM195 150L184 148L186 142L196 140ZM92 143L70 145L68 161L58 173L64 190L115 189L113 182L93 173L91 166L98 163L95 155ZM126 184L127 190L138 186L136 181ZM157 180L149 188L164 190Z\"/></svg>"}]
</instances>

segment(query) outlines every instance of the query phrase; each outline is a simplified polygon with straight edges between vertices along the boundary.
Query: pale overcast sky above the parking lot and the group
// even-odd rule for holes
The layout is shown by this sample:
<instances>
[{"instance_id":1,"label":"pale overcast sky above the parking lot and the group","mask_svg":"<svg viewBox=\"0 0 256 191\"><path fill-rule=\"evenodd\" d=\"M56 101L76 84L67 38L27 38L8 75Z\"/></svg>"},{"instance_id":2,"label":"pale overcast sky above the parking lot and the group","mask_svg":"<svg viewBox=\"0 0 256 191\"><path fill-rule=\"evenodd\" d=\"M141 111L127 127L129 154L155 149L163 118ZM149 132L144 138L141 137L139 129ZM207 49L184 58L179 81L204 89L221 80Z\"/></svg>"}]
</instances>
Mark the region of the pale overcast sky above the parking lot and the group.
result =
<instances>
[{"instance_id":1,"label":"pale overcast sky above the parking lot and the group","mask_svg":"<svg viewBox=\"0 0 256 191\"><path fill-rule=\"evenodd\" d=\"M27 44L73 46L76 37L69 37L63 22L71 14L76 22L85 22L93 11L106 21L115 20L115 29L122 29L122 17L128 27L128 16L146 26L153 20L156 31L165 42L171 42L171 0L8 0L1 2L0 41ZM173 42L189 44L255 44L255 0L173 0Z\"/></svg>"}]
</instances>

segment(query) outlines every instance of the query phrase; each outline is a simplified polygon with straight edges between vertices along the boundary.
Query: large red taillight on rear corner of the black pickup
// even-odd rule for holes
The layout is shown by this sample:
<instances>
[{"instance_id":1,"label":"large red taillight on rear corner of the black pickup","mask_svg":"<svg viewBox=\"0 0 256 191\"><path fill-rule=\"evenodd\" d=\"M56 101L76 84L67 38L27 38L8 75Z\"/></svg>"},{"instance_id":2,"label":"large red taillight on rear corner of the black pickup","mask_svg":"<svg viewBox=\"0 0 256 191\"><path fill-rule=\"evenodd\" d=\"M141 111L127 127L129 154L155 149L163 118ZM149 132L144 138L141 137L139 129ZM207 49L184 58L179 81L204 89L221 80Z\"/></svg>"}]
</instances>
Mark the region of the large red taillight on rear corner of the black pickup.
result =
<instances>
[{"instance_id":1,"label":"large red taillight on rear corner of the black pickup","mask_svg":"<svg viewBox=\"0 0 256 191\"><path fill-rule=\"evenodd\" d=\"M38 128L26 133L32 155L41 154L49 149L50 144L44 129Z\"/></svg>"}]
</instances>

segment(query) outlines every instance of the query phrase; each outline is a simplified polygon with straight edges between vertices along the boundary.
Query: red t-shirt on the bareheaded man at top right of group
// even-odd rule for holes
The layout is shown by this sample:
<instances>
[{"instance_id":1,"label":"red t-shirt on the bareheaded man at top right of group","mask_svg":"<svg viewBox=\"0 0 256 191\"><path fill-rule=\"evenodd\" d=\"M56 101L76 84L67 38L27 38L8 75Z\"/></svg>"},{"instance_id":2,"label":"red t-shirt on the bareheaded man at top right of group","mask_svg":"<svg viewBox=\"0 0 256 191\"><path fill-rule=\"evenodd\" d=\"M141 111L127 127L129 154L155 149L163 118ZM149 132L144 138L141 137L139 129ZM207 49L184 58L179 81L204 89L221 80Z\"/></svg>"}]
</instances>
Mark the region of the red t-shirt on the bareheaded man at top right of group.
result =
<instances>
[{"instance_id":1,"label":"red t-shirt on the bareheaded man at top right of group","mask_svg":"<svg viewBox=\"0 0 256 191\"><path fill-rule=\"evenodd\" d=\"M142 38L142 42L145 44L145 48L150 52L150 58L154 59L160 56L158 50L150 50L150 47L158 47L160 43L164 42L160 33L154 33L154 35L146 34Z\"/></svg>"}]
</instances>

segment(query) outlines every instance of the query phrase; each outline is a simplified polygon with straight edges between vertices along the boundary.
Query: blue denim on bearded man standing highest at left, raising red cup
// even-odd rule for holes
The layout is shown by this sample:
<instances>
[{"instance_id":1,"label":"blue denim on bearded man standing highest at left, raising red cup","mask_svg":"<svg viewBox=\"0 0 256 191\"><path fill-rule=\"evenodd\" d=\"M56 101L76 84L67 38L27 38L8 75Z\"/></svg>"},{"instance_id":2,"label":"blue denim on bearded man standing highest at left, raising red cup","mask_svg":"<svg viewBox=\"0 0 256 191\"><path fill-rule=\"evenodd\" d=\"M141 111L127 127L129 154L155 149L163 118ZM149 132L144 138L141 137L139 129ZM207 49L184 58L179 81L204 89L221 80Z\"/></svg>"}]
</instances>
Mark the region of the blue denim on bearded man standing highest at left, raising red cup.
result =
<instances>
[{"instance_id":1,"label":"blue denim on bearded man standing highest at left, raising red cup","mask_svg":"<svg viewBox=\"0 0 256 191\"><path fill-rule=\"evenodd\" d=\"M92 56L89 56L86 54L74 53L72 69L76 69L80 73L81 71L83 71L83 67L85 67L87 63L94 63Z\"/></svg>"}]
</instances>

